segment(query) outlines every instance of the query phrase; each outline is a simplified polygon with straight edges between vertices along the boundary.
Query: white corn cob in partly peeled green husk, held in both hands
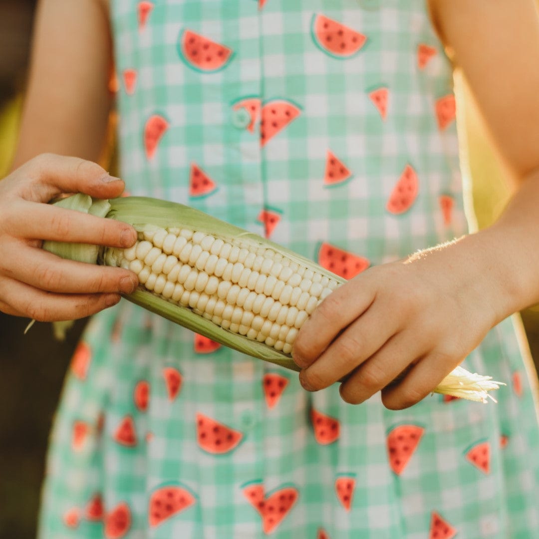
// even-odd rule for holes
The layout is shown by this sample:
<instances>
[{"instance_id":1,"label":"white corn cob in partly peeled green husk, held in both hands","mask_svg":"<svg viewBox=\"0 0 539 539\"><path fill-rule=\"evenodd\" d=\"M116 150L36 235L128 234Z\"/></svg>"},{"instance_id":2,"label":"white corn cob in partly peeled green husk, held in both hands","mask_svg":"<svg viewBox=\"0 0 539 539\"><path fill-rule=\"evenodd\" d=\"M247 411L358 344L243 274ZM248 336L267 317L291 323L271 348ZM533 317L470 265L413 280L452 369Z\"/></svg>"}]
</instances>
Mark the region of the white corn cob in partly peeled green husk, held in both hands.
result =
<instances>
[{"instance_id":1,"label":"white corn cob in partly peeled green husk, held in both hands","mask_svg":"<svg viewBox=\"0 0 539 539\"><path fill-rule=\"evenodd\" d=\"M92 201L80 194L59 204L129 223L138 239L127 249L57 242L44 248L130 269L139 288L128 300L289 369L299 370L291 353L302 324L345 282L307 258L181 204L140 197ZM485 402L488 391L498 388L488 377L459 369L456 382L453 372L452 384L434 391L453 394L455 388L458 396Z\"/></svg>"}]
</instances>

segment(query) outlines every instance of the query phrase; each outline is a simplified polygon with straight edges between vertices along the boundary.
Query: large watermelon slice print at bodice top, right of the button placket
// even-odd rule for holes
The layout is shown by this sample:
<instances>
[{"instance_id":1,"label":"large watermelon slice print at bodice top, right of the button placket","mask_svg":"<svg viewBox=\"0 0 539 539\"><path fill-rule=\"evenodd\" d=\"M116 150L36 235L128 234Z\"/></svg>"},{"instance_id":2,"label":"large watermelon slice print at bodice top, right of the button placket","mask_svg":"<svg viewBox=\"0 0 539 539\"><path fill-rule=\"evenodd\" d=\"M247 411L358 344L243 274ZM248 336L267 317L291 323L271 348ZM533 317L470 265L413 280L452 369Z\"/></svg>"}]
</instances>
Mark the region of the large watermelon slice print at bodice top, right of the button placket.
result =
<instances>
[{"instance_id":1,"label":"large watermelon slice print at bodice top, right of the button placket","mask_svg":"<svg viewBox=\"0 0 539 539\"><path fill-rule=\"evenodd\" d=\"M325 15L313 16L311 34L316 46L334 58L353 57L367 41L363 34Z\"/></svg>"}]
</instances>

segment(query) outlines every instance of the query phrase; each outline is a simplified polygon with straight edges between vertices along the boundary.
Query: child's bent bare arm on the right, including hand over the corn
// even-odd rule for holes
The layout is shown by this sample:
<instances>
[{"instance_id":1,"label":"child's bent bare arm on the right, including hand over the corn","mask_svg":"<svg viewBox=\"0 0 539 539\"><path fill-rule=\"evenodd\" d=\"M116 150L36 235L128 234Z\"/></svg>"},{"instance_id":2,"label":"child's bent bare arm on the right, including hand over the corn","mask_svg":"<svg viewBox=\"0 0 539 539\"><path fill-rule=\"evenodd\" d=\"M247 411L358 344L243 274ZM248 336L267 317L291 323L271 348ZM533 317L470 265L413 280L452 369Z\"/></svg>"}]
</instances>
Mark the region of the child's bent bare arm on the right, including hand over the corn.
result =
<instances>
[{"instance_id":1,"label":"child's bent bare arm on the right, including hand over the corn","mask_svg":"<svg viewBox=\"0 0 539 539\"><path fill-rule=\"evenodd\" d=\"M539 18L534 0L432 0L434 19L519 191L494 226L373 267L328 296L294 345L306 389L417 403L508 315L539 301ZM342 332L342 333L341 333ZM404 378L388 384L400 373ZM385 388L385 389L384 389Z\"/></svg>"}]
</instances>

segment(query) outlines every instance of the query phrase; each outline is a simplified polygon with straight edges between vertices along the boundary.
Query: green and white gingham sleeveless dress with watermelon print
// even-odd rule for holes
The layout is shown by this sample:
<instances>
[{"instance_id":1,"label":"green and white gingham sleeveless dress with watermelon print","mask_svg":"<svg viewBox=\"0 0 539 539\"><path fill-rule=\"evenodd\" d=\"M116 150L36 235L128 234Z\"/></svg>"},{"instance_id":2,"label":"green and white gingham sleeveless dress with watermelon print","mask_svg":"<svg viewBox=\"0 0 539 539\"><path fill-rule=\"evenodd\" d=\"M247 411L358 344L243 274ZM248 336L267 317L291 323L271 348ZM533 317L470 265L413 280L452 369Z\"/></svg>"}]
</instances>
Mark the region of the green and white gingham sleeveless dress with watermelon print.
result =
<instances>
[{"instance_id":1,"label":"green and white gingham sleeveless dress with watermelon print","mask_svg":"<svg viewBox=\"0 0 539 539\"><path fill-rule=\"evenodd\" d=\"M347 277L466 232L452 71L424 0L111 3L131 194L333 253ZM464 363L508 383L498 404L395 412L337 384L310 394L123 301L73 357L39 537L539 537L518 329Z\"/></svg>"}]
</instances>

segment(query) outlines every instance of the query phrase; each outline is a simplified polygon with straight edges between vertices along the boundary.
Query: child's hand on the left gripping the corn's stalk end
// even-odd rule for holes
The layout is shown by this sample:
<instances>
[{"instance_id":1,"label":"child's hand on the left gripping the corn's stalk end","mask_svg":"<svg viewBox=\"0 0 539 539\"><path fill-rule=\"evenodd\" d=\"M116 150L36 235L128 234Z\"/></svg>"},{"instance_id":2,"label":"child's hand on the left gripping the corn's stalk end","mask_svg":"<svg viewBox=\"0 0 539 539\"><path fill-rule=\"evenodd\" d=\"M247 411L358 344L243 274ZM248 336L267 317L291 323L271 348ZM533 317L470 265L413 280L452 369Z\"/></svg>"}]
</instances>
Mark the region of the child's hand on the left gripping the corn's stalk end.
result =
<instances>
[{"instance_id":1,"label":"child's hand on the left gripping the corn's stalk end","mask_svg":"<svg viewBox=\"0 0 539 539\"><path fill-rule=\"evenodd\" d=\"M74 320L118 303L138 284L126 269L63 260L43 240L130 247L133 227L47 204L63 193L121 195L125 185L98 164L43 154L0 181L0 310L39 321Z\"/></svg>"}]
</instances>

